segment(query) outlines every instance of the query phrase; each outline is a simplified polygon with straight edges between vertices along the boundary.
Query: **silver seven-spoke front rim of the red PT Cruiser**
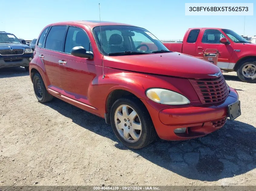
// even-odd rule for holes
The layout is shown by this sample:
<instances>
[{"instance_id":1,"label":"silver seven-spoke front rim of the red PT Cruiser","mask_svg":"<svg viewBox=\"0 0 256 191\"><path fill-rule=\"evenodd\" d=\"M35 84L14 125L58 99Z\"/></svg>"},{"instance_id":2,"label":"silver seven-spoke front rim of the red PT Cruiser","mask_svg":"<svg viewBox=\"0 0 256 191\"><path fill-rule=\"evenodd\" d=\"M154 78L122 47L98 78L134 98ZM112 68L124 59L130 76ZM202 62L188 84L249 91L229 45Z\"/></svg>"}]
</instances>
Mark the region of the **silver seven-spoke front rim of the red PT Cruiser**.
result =
<instances>
[{"instance_id":1,"label":"silver seven-spoke front rim of the red PT Cruiser","mask_svg":"<svg viewBox=\"0 0 256 191\"><path fill-rule=\"evenodd\" d=\"M128 105L120 105L115 110L115 127L125 141L136 142L141 136L141 120L137 112Z\"/></svg>"}]
</instances>

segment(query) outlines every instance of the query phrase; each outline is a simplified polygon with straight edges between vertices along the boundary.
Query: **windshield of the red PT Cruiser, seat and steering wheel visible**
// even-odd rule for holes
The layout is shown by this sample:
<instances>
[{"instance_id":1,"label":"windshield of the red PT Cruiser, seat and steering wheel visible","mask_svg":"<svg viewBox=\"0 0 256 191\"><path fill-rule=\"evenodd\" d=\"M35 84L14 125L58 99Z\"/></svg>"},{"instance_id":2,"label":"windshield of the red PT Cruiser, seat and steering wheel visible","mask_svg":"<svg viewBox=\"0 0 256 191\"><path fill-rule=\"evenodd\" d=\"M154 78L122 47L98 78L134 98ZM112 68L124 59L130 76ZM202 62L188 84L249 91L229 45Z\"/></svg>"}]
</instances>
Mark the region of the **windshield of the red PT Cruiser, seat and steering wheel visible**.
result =
<instances>
[{"instance_id":1,"label":"windshield of the red PT Cruiser, seat and steering wheel visible","mask_svg":"<svg viewBox=\"0 0 256 191\"><path fill-rule=\"evenodd\" d=\"M170 52L153 34L140 27L101 26L93 29L102 54L122 56Z\"/></svg>"}]
</instances>

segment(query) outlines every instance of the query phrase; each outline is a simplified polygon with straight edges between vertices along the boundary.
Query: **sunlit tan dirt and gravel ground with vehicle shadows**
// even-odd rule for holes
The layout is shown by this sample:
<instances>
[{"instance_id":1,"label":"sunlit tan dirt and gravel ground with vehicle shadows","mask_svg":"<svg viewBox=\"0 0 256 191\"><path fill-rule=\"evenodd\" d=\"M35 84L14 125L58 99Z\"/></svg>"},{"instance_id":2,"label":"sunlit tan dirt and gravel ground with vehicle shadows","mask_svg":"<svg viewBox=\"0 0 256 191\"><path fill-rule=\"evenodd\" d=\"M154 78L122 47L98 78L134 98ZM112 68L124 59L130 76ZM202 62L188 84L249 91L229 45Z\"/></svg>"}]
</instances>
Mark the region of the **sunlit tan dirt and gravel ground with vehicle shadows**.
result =
<instances>
[{"instance_id":1,"label":"sunlit tan dirt and gravel ground with vehicle shadows","mask_svg":"<svg viewBox=\"0 0 256 191\"><path fill-rule=\"evenodd\" d=\"M256 185L256 84L224 76L240 117L202 138L133 150L104 119L58 99L39 103L24 68L0 69L0 186Z\"/></svg>"}]
</instances>

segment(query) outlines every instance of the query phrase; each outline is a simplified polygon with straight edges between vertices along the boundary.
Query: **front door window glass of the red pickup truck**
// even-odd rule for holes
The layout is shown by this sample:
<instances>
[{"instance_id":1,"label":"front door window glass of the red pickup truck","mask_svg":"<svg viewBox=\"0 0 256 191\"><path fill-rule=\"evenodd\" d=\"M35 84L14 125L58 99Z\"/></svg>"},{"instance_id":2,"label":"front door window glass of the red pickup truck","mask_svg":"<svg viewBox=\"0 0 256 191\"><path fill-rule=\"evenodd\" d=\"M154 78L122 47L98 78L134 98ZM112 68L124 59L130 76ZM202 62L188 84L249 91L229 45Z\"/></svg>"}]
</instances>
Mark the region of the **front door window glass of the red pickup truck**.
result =
<instances>
[{"instance_id":1,"label":"front door window glass of the red pickup truck","mask_svg":"<svg viewBox=\"0 0 256 191\"><path fill-rule=\"evenodd\" d=\"M220 44L220 39L222 37L224 37L224 35L219 30L207 29L204 31L202 43Z\"/></svg>"}]
</instances>

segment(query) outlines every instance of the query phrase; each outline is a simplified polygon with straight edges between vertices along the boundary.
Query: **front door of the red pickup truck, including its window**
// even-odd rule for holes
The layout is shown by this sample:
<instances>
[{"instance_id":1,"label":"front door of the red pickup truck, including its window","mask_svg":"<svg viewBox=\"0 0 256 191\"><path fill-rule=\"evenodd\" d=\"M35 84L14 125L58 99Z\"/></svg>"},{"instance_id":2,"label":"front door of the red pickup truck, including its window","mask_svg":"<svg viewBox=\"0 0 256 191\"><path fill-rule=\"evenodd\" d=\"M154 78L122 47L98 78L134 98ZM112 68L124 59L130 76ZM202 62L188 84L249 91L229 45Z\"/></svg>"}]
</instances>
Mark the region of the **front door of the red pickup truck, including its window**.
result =
<instances>
[{"instance_id":1,"label":"front door of the red pickup truck, including its window","mask_svg":"<svg viewBox=\"0 0 256 191\"><path fill-rule=\"evenodd\" d=\"M202 29L199 34L198 41L196 44L196 57L203 58L203 50L206 49L217 49L219 51L218 57L218 67L222 69L227 69L232 53L232 44L221 44L220 38L225 37L221 30L217 29Z\"/></svg>"}]
</instances>

